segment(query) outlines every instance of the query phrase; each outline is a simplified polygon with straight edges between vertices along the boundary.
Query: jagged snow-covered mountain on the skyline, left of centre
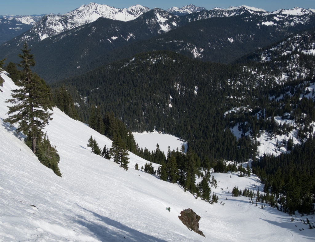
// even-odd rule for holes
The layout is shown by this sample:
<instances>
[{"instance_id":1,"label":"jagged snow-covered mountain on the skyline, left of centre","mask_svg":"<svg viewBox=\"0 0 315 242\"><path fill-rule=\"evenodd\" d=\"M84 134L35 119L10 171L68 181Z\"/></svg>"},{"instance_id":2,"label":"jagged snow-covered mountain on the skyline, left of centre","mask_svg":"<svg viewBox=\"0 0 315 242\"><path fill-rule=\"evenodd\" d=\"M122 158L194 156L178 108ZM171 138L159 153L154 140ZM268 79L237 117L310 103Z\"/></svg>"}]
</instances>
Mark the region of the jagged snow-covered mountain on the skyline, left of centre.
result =
<instances>
[{"instance_id":1,"label":"jagged snow-covered mountain on the skyline, left of centre","mask_svg":"<svg viewBox=\"0 0 315 242\"><path fill-rule=\"evenodd\" d=\"M47 15L39 21L24 38L26 39L43 40L47 37L58 35L64 31L74 29L89 24L96 19L108 18L120 21L129 21L136 19L141 14L149 11L149 8L139 4L129 8L114 8L105 4L89 3L63 15ZM36 37L35 37L36 36Z\"/></svg>"}]
</instances>

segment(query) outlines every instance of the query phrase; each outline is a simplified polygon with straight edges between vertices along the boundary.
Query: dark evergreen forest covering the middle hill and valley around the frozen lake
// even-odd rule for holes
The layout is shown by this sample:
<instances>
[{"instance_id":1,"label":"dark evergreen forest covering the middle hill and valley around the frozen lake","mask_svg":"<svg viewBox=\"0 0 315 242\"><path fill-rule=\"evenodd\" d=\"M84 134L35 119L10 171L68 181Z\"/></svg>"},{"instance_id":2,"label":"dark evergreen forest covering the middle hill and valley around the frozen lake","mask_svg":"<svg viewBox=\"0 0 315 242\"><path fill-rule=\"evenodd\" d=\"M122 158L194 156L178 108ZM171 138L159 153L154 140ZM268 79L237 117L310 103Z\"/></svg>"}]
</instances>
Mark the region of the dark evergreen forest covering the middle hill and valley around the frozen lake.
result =
<instances>
[{"instance_id":1,"label":"dark evergreen forest covering the middle hill and valley around the frozen lake","mask_svg":"<svg viewBox=\"0 0 315 242\"><path fill-rule=\"evenodd\" d=\"M262 130L273 134L288 134L292 130L291 126L278 125L275 116L295 119L300 126L298 137L301 139L306 139L312 133L310 123L315 121L314 100L300 99L300 96L308 94L306 87L314 82L315 57L292 52L289 56L274 55L271 58L273 61L258 62L249 55L234 64L219 64L193 60L171 51L144 52L54 83L52 87L64 86L72 94L82 121L90 124L91 114L92 120L93 116L98 116L98 120L103 119L100 123L102 127L99 125L97 128L96 125L95 129L108 137L113 136L108 131L111 130L108 128L110 119L116 120L112 123L118 120L114 125L115 132L119 130L119 122L121 126L126 126L120 136L125 137L126 144L129 143L128 149L133 149L134 153L148 161L161 164L159 171L150 171L148 164L143 168L146 172L157 172L166 180L174 179L170 175L163 175L166 171L171 173L171 162L167 161L169 157L160 154L158 147L152 152L139 149L131 136L128 138L131 131L158 130L187 140L189 150L196 154L195 171L192 172L195 174L200 169L210 167L217 172L236 171L236 167L226 167L223 160L238 163L252 159L253 171L266 183L266 191L272 193L272 205L279 200L281 207L278 209L284 212L314 212L309 203L301 205L307 199L313 201L313 183L307 188L310 192L301 193L295 203L283 201L282 197L289 194L283 187L278 191L270 188L271 181L268 179L273 178L266 177L272 177L278 168L266 169L263 161L256 159L259 142L255 137ZM292 69L293 63L295 69ZM297 75L302 69L307 73L303 78ZM285 70L290 70L289 78L285 83L279 83L277 78ZM225 114L234 107L249 108ZM230 130L237 124L243 133L239 140ZM295 150L289 138L282 145L288 150ZM175 161L176 179L180 179L179 171L183 170L187 175L187 167L180 168L181 162ZM307 164L304 160L300 161L295 163L299 167ZM284 164L282 169L287 169L287 165ZM248 173L249 170L241 169L242 172ZM287 181L289 176L283 173L281 179ZM299 175L295 174L294 177L298 179ZM182 184L185 185L184 181ZM187 189L193 193L201 191L197 187Z\"/></svg>"}]
</instances>

